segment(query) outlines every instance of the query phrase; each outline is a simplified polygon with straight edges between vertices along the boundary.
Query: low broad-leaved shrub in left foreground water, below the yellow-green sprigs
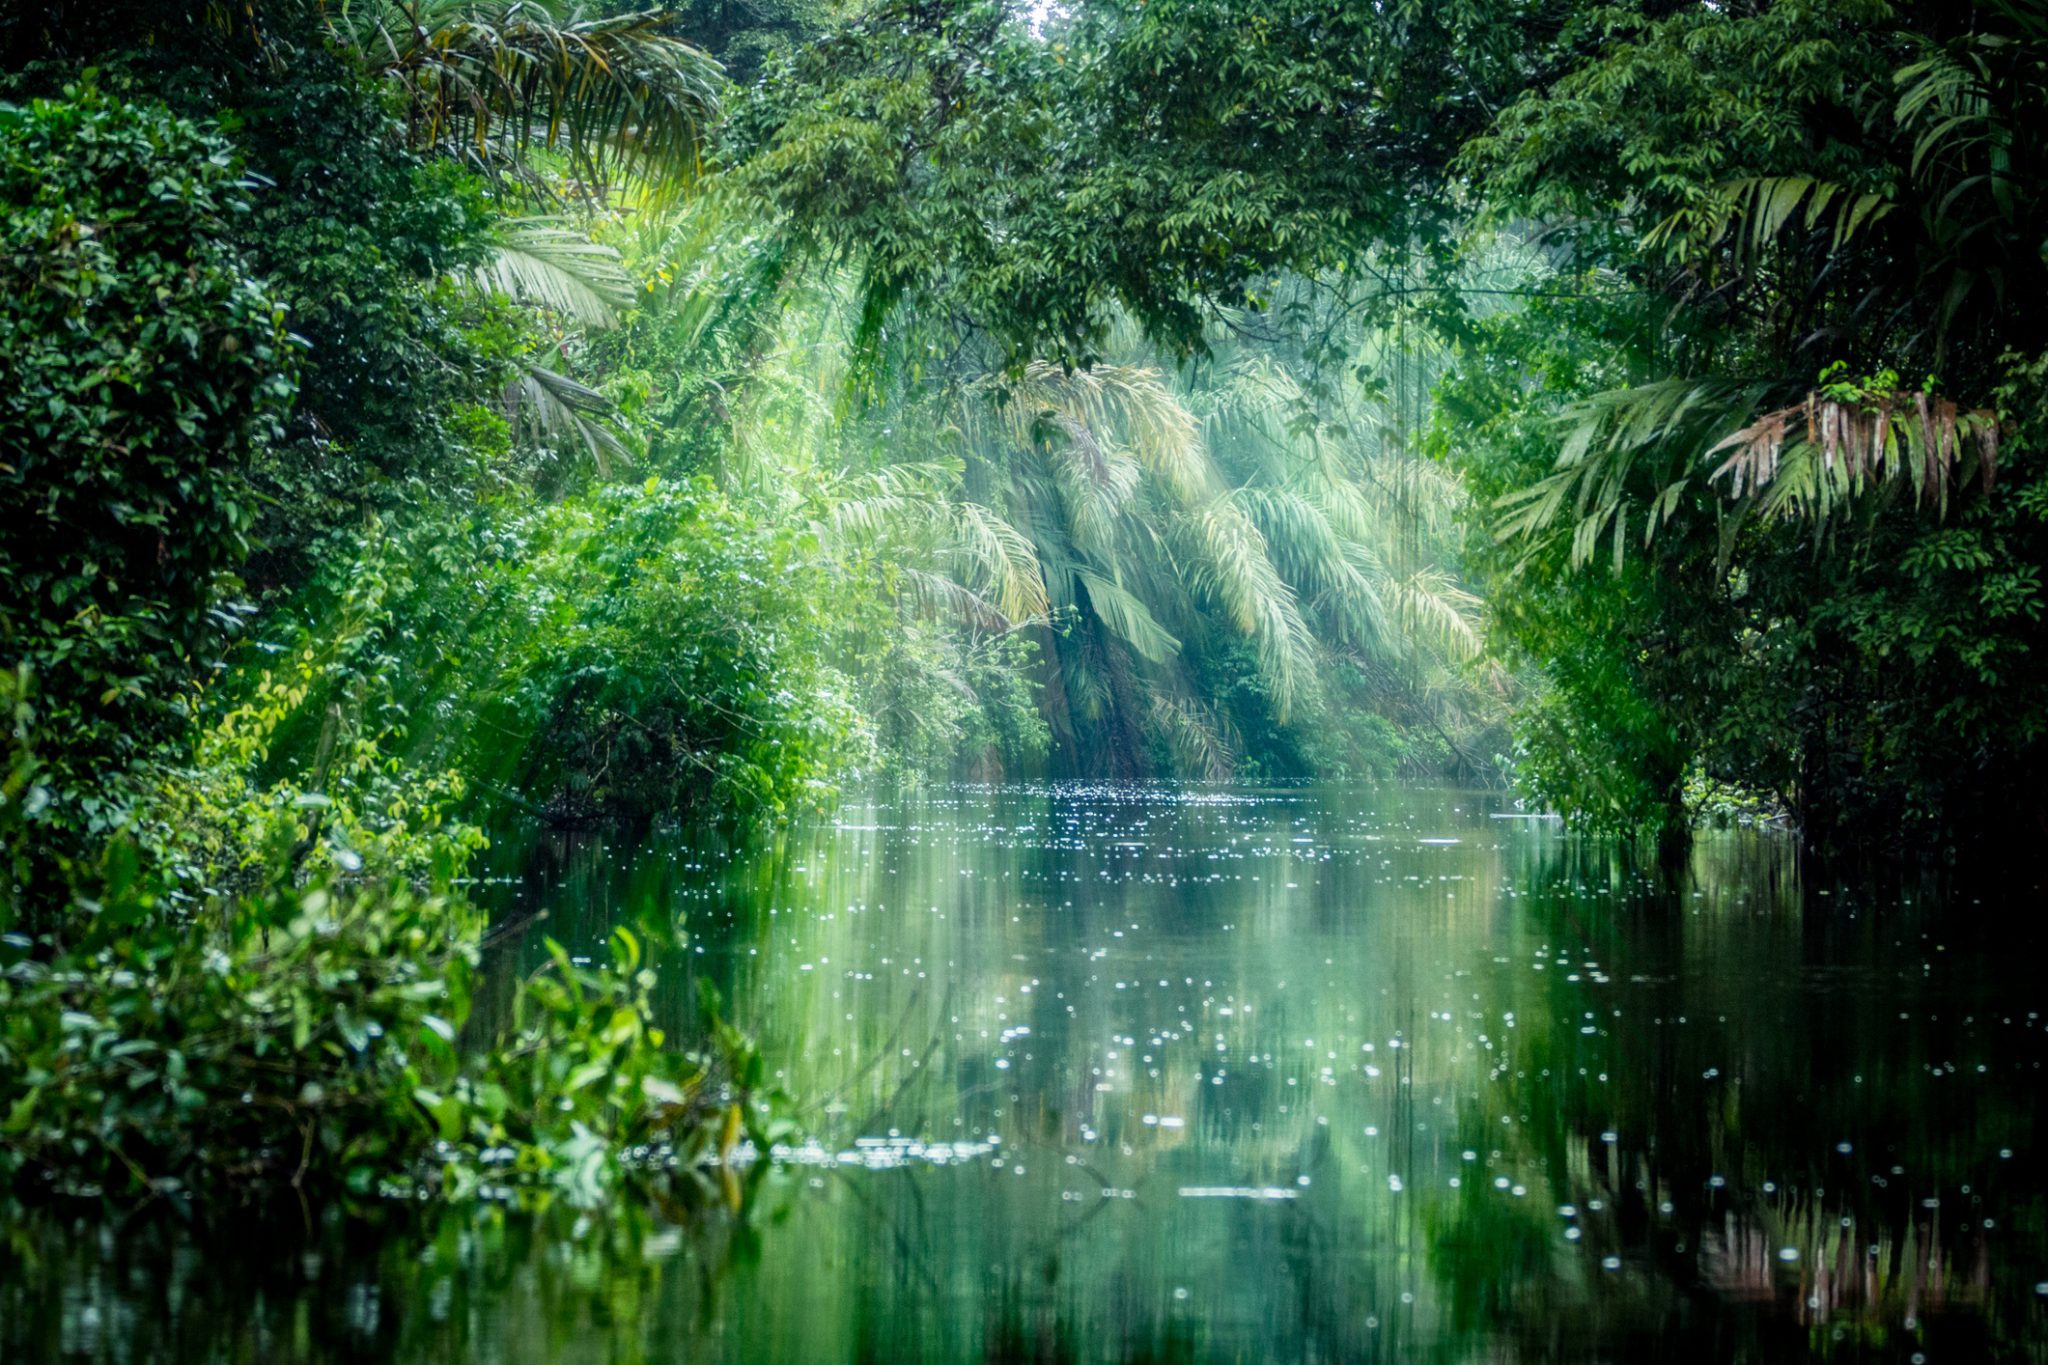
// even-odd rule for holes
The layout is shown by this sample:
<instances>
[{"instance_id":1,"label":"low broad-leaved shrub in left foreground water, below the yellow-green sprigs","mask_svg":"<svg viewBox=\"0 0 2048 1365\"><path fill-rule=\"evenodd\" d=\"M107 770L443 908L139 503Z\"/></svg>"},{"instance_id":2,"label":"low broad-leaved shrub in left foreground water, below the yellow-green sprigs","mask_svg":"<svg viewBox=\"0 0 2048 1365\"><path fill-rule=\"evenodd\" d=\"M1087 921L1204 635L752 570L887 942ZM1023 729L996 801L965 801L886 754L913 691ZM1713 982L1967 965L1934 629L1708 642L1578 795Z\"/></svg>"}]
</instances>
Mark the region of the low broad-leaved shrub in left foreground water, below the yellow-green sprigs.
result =
<instances>
[{"instance_id":1,"label":"low broad-leaved shrub in left foreground water, below the yellow-green sprigs","mask_svg":"<svg viewBox=\"0 0 2048 1365\"><path fill-rule=\"evenodd\" d=\"M729 1033L721 1056L666 1046L631 931L602 968L555 945L510 1019L475 1029L481 923L461 900L319 880L184 925L133 847L104 878L90 941L0 970L0 1185L18 1195L291 1183L594 1203L629 1148L690 1164L737 1136L729 1083L758 1062Z\"/></svg>"}]
</instances>

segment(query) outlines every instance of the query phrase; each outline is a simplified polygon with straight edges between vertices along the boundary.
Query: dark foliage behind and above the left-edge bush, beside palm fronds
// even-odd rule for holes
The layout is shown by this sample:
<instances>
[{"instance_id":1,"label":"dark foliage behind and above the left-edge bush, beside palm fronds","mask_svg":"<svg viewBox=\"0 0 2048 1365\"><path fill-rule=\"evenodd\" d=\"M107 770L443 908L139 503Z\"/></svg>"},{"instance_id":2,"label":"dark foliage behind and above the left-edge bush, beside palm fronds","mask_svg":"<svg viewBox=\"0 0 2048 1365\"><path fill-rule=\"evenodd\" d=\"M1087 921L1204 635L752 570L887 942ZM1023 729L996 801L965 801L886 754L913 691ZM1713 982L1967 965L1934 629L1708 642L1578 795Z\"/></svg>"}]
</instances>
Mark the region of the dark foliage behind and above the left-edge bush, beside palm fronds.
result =
<instances>
[{"instance_id":1,"label":"dark foliage behind and above the left-edge bush, beside palm fronds","mask_svg":"<svg viewBox=\"0 0 2048 1365\"><path fill-rule=\"evenodd\" d=\"M49 94L86 70L109 100L168 104L231 147L244 209L209 235L285 309L299 381L283 432L256 442L254 522L231 555L252 555L264 591L301 581L338 524L418 497L457 440L449 413L496 399L532 340L461 287L492 250L489 186L408 141L385 80L317 6L258 14L57 14L45 59L8 84Z\"/></svg>"}]
</instances>

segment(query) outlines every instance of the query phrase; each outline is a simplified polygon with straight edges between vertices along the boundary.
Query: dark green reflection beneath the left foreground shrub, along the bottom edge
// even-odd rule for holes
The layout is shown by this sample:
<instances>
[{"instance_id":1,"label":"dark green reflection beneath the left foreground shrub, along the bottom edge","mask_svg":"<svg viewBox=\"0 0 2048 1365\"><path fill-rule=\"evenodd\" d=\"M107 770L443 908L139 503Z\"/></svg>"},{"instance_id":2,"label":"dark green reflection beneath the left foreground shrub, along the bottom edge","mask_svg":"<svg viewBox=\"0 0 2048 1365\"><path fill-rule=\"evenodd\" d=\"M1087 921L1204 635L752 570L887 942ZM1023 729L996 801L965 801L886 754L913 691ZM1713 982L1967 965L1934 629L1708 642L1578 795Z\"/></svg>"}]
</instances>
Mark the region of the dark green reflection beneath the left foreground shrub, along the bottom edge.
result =
<instances>
[{"instance_id":1,"label":"dark green reflection beneath the left foreground shrub, along the bottom edge","mask_svg":"<svg viewBox=\"0 0 2048 1365\"><path fill-rule=\"evenodd\" d=\"M688 1209L686 1230L637 1203L602 1220L377 1203L311 1226L297 1207L193 1214L158 1207L104 1240L61 1218L12 1222L0 1359L340 1365L504 1359L504 1342L555 1359L573 1342L633 1365L651 1357L651 1324L711 1312L750 1246L715 1203Z\"/></svg>"}]
</instances>

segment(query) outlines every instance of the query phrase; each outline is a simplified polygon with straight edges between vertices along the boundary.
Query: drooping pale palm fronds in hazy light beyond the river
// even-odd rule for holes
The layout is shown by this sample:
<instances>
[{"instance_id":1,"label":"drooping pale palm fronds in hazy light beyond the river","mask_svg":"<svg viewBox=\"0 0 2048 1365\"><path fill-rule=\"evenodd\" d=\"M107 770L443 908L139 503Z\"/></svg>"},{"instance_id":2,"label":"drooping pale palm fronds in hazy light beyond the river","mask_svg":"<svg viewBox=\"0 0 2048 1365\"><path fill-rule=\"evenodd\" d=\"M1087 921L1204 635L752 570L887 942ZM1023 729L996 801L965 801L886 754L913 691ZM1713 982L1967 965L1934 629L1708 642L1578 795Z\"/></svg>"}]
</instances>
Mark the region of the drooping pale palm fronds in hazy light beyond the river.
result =
<instances>
[{"instance_id":1,"label":"drooping pale palm fronds in hazy light beyond the river","mask_svg":"<svg viewBox=\"0 0 2048 1365\"><path fill-rule=\"evenodd\" d=\"M1122 774L1149 769L1147 731L1192 776L1231 772L1237 718L1194 657L1229 641L1280 724L1329 714L1339 657L1389 673L1477 655L1479 604L1444 548L1401 548L1409 526L1446 530L1456 483L1290 430L1307 393L1268 358L1221 385L1030 364L963 401L967 487L1030 536L1065 624L1047 639L1055 731Z\"/></svg>"}]
</instances>

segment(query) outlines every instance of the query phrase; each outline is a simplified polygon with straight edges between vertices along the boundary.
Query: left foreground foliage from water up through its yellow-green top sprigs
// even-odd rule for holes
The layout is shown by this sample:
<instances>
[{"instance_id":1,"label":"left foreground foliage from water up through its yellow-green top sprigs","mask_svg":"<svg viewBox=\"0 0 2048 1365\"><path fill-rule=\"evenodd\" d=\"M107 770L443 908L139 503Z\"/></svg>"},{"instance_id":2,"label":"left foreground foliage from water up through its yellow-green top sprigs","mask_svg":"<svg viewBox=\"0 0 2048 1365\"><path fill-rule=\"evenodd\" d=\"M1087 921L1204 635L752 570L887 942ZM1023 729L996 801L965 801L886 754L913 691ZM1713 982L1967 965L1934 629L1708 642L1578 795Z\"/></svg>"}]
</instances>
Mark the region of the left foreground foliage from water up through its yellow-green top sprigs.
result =
<instances>
[{"instance_id":1,"label":"left foreground foliage from water up through its yellow-green top sprigs","mask_svg":"<svg viewBox=\"0 0 2048 1365\"><path fill-rule=\"evenodd\" d=\"M260 765L260 735L289 710L238 708L211 739ZM23 739L6 751L0 847L14 849L33 837L37 769ZM150 845L121 837L70 864L61 925L0 937L0 1187L592 1205L623 1179L686 1177L741 1132L766 1142L760 1058L715 1017L707 1050L676 1048L631 929L600 966L551 943L510 1001L475 1009L483 921L453 886L481 839L449 819L459 786L393 784L389 767L379 745L344 741L328 792L276 782L240 819L195 821L188 796L154 806ZM379 786L387 810L338 800ZM219 886L195 880L221 868ZM6 923L20 886L0 890Z\"/></svg>"}]
</instances>

